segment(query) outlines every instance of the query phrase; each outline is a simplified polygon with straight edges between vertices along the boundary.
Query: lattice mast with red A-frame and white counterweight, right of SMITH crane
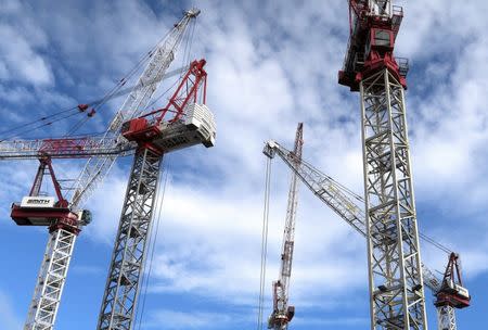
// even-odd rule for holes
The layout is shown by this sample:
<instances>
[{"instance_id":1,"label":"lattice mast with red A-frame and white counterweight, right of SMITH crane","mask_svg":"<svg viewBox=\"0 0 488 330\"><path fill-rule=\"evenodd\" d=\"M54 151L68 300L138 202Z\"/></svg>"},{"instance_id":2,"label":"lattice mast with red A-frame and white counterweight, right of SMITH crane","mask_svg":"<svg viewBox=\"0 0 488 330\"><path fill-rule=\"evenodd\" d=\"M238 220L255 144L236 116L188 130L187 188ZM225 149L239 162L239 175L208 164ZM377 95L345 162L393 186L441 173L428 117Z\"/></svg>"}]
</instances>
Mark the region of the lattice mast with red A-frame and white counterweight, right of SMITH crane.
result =
<instances>
[{"instance_id":1,"label":"lattice mast with red A-frame and white counterweight, right of SMITH crane","mask_svg":"<svg viewBox=\"0 0 488 330\"><path fill-rule=\"evenodd\" d=\"M123 136L138 143L97 329L132 329L164 153L197 143L214 145L215 124L205 105L205 61L195 61L168 105L129 120ZM200 92L200 89L203 92ZM169 114L171 119L164 119Z\"/></svg>"}]
</instances>

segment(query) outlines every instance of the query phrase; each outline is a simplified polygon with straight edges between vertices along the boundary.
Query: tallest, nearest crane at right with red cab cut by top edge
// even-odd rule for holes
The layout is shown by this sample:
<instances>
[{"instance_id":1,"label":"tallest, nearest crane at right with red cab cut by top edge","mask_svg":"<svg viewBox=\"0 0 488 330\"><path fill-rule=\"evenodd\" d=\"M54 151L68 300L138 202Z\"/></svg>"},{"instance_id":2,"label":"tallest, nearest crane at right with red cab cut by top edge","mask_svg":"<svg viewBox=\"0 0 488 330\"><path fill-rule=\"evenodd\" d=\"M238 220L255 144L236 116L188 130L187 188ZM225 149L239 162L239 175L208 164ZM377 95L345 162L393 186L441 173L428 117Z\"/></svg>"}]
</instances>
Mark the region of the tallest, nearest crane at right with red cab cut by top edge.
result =
<instances>
[{"instance_id":1,"label":"tallest, nearest crane at right with red cab cut by top edge","mask_svg":"<svg viewBox=\"0 0 488 330\"><path fill-rule=\"evenodd\" d=\"M360 92L371 329L426 330L404 89L394 56L403 17L393 0L348 0L338 82Z\"/></svg>"}]
</instances>

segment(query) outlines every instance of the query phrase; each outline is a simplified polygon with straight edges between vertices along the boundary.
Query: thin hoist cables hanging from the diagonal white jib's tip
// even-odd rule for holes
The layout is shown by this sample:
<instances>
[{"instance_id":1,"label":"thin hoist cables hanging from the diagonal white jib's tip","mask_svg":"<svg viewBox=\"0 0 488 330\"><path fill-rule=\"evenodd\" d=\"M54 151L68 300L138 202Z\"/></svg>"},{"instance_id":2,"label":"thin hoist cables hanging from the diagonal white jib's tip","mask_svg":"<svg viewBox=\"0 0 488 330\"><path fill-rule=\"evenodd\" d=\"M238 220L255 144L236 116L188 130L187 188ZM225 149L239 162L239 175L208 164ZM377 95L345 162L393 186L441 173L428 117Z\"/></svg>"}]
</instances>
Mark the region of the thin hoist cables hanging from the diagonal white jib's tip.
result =
<instances>
[{"instance_id":1,"label":"thin hoist cables hanging from the diagonal white jib's tip","mask_svg":"<svg viewBox=\"0 0 488 330\"><path fill-rule=\"evenodd\" d=\"M257 330L262 329L262 313L265 307L265 285L266 285L266 263L268 256L268 225L269 225L269 195L271 181L271 158L266 161L265 179L265 208L262 212L262 231L261 231L261 269L259 275L259 302Z\"/></svg>"}]
</instances>

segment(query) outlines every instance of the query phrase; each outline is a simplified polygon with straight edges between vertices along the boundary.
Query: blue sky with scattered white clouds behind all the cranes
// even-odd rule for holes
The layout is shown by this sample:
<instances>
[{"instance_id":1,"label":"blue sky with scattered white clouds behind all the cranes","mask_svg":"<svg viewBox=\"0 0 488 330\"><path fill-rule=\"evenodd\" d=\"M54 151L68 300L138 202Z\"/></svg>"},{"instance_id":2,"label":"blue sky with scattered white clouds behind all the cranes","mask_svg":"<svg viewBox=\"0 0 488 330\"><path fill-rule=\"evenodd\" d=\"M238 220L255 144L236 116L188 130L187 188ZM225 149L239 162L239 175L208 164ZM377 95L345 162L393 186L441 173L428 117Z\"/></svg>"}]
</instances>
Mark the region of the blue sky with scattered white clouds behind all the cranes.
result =
<instances>
[{"instance_id":1,"label":"blue sky with scattered white clouds behind all the cranes","mask_svg":"<svg viewBox=\"0 0 488 330\"><path fill-rule=\"evenodd\" d=\"M362 191L359 96L336 82L347 43L346 1L17 1L0 5L3 127L102 96L175 23L202 9L192 48L208 65L214 149L166 157L164 199L141 329L249 329L256 325L265 157L270 138L291 147L304 122L304 157ZM408 119L421 230L462 257L473 306L460 329L480 329L488 304L488 12L486 1L397 1L406 17L397 54L410 59ZM178 60L175 66L180 65ZM81 131L103 130L123 99ZM20 138L64 134L63 122ZM0 129L2 131L4 129ZM0 138L4 138L3 136ZM57 329L93 329L130 160L119 160L89 202ZM1 162L0 329L21 329L46 246L43 228L14 226L36 162ZM80 162L55 162L69 177ZM273 165L268 303L278 275L288 173ZM442 270L447 256L423 245ZM291 301L293 329L365 329L365 242L301 188ZM431 327L435 309L428 305Z\"/></svg>"}]
</instances>

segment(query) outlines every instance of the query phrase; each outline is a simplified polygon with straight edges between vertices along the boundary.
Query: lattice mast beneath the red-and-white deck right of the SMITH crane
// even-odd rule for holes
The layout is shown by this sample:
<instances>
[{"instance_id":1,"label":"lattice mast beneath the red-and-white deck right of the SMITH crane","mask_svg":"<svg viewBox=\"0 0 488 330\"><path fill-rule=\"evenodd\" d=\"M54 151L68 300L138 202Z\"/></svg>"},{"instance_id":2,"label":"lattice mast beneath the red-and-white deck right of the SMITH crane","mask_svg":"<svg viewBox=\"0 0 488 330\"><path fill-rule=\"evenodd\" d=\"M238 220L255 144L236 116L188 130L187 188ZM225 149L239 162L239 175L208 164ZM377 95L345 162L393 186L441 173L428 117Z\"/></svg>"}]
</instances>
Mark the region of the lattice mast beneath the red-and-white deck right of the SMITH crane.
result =
<instances>
[{"instance_id":1,"label":"lattice mast beneath the red-and-white deck right of the SMITH crane","mask_svg":"<svg viewBox=\"0 0 488 330\"><path fill-rule=\"evenodd\" d=\"M136 316L145 249L151 234L162 155L136 152L106 280L99 330L129 330Z\"/></svg>"}]
</instances>

